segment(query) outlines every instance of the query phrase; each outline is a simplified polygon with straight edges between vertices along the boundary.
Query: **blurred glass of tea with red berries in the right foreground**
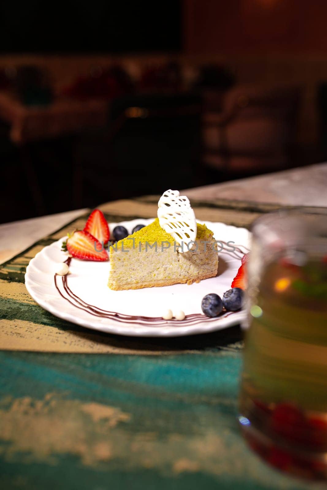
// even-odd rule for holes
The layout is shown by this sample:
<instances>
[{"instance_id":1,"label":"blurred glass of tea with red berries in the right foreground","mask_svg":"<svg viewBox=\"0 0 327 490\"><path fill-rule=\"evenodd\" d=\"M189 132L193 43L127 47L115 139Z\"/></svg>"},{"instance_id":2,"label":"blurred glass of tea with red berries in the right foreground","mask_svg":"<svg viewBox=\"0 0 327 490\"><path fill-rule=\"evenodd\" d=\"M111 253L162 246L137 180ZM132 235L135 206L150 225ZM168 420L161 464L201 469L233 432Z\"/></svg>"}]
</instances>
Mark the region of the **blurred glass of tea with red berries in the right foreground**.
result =
<instances>
[{"instance_id":1,"label":"blurred glass of tea with red berries in the right foreground","mask_svg":"<svg viewBox=\"0 0 327 490\"><path fill-rule=\"evenodd\" d=\"M327 480L327 209L253 223L239 421L265 461Z\"/></svg>"}]
</instances>

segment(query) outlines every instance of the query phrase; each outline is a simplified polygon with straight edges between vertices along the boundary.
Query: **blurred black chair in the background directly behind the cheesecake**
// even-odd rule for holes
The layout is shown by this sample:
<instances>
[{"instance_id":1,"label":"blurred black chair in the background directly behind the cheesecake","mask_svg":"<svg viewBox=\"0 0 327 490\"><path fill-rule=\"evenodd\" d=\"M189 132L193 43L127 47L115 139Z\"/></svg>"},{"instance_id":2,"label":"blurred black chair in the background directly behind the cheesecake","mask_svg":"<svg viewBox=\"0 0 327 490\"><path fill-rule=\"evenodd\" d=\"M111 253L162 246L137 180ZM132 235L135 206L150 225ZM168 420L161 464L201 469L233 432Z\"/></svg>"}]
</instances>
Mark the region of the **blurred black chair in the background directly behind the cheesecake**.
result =
<instances>
[{"instance_id":1,"label":"blurred black chair in the background directly behind the cheesecake","mask_svg":"<svg viewBox=\"0 0 327 490\"><path fill-rule=\"evenodd\" d=\"M87 150L81 150L83 163L76 166L74 178L75 206L88 204L92 194L101 202L160 194L171 186L200 185L200 135L198 95L142 94L113 99L103 135L105 158L101 161L88 151L91 159ZM99 147L95 137L94 146Z\"/></svg>"}]
</instances>

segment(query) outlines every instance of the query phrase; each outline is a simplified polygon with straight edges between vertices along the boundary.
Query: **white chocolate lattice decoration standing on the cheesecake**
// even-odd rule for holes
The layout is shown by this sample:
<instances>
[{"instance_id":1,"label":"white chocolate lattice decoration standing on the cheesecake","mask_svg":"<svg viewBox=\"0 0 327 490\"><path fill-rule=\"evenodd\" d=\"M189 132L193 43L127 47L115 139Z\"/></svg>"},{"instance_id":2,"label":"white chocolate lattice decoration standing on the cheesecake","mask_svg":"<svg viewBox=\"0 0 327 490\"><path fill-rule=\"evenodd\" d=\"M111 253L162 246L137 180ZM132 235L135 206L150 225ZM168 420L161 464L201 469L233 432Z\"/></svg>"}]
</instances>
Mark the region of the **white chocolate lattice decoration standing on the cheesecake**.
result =
<instances>
[{"instance_id":1,"label":"white chocolate lattice decoration standing on the cheesecake","mask_svg":"<svg viewBox=\"0 0 327 490\"><path fill-rule=\"evenodd\" d=\"M179 245L185 244L180 251L187 252L186 244L194 242L197 237L197 222L188 198L171 189L164 192L158 202L158 218L161 228L170 233Z\"/></svg>"}]
</instances>

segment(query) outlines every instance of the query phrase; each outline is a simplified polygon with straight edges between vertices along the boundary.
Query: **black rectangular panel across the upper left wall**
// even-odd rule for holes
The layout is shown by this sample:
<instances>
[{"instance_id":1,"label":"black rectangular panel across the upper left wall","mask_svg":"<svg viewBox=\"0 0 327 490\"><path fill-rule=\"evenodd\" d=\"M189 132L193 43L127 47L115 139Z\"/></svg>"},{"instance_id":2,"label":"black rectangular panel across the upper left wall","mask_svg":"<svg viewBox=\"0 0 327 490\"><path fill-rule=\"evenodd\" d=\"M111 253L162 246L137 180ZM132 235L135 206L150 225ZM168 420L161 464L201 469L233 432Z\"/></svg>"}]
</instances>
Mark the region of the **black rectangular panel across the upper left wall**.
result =
<instances>
[{"instance_id":1,"label":"black rectangular panel across the upper left wall","mask_svg":"<svg viewBox=\"0 0 327 490\"><path fill-rule=\"evenodd\" d=\"M0 53L135 53L180 49L180 1L1 2ZM169 32L169 35L167 35Z\"/></svg>"}]
</instances>

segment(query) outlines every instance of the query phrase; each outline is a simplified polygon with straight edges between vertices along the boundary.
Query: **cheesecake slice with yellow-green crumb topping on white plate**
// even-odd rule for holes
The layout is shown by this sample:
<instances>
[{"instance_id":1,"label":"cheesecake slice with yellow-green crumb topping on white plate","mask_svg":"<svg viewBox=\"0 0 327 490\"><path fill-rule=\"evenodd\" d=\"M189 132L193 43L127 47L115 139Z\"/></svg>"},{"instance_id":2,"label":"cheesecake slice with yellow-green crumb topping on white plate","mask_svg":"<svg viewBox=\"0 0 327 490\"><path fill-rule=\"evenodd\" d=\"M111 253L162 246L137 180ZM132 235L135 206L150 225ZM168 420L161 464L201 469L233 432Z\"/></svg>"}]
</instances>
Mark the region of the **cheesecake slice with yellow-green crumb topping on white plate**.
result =
<instances>
[{"instance_id":1,"label":"cheesecake slice with yellow-green crumb topping on white plate","mask_svg":"<svg viewBox=\"0 0 327 490\"><path fill-rule=\"evenodd\" d=\"M192 246L191 246L192 245ZM163 230L156 218L124 240L110 247L108 286L113 290L170 286L200 282L218 269L217 244L213 232L197 223L197 235L188 251Z\"/></svg>"}]
</instances>

